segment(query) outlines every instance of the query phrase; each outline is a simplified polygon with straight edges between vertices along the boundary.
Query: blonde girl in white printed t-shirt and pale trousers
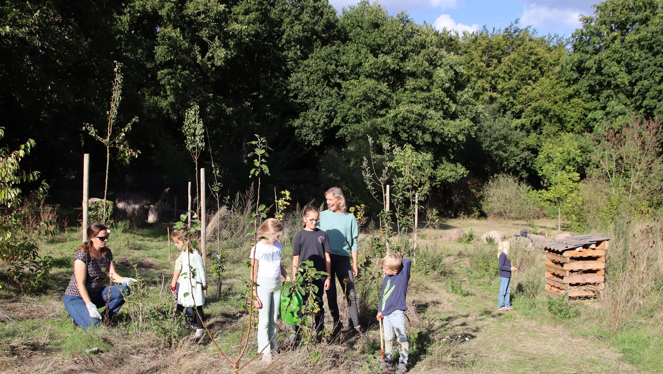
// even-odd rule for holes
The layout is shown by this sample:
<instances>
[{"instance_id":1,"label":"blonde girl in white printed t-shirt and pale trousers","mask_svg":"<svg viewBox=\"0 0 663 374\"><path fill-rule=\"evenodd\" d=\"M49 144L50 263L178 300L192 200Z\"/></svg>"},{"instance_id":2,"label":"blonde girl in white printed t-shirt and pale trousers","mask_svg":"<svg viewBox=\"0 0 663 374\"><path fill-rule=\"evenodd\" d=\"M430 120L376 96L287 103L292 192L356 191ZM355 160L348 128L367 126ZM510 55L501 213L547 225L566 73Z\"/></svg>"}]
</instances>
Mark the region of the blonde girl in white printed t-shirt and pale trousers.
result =
<instances>
[{"instance_id":1,"label":"blonde girl in white printed t-shirt and pale trousers","mask_svg":"<svg viewBox=\"0 0 663 374\"><path fill-rule=\"evenodd\" d=\"M280 304L281 291L274 291L281 285L281 275L290 281L285 267L281 265L283 248L278 242L283 233L283 224L276 218L267 218L258 229L259 240L249 258L253 265L251 279L258 283L253 287L253 305L259 308L258 352L263 353L263 361L272 361L272 350L276 348L276 318Z\"/></svg>"}]
</instances>

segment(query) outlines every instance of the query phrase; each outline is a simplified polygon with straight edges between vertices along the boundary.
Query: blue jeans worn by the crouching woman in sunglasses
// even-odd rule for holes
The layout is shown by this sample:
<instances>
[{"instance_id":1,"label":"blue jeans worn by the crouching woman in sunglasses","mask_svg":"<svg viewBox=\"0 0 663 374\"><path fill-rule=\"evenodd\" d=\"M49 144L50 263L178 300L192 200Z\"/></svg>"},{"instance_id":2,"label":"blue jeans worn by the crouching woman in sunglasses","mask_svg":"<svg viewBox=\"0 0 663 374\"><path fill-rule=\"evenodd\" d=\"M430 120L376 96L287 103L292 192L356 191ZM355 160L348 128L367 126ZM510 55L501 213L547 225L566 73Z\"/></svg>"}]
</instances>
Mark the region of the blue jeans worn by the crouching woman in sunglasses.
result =
<instances>
[{"instance_id":1,"label":"blue jeans worn by the crouching woman in sunglasses","mask_svg":"<svg viewBox=\"0 0 663 374\"><path fill-rule=\"evenodd\" d=\"M97 295L90 295L90 301L94 303L97 308L107 306L106 310L100 312L101 318L104 320L111 320L111 318L113 318L113 316L115 316L120 310L122 304L124 304L124 297L125 295L129 295L129 292L129 287L125 285L108 286L101 290L101 292L97 293ZM101 323L99 319L90 316L88 307L82 297L64 295L62 300L64 301L64 308L69 315L74 318L74 322L76 322L78 326L88 329L91 326L99 326L99 323Z\"/></svg>"}]
</instances>

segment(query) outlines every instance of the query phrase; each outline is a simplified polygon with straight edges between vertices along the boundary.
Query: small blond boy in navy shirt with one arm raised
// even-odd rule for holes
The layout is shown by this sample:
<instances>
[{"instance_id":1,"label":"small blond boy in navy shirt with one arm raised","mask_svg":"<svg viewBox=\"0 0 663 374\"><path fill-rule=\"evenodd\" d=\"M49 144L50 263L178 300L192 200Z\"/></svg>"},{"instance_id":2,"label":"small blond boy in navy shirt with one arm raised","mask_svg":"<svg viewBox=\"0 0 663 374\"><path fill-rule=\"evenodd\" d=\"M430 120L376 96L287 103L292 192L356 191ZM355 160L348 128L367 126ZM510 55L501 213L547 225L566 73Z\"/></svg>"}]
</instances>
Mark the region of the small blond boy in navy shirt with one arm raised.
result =
<instances>
[{"instance_id":1,"label":"small blond boy in navy shirt with one arm raised","mask_svg":"<svg viewBox=\"0 0 663 374\"><path fill-rule=\"evenodd\" d=\"M385 330L385 361L382 362L382 367L386 370L392 365L391 340L396 332L396 339L400 345L396 374L404 374L407 371L408 353L410 353L408 338L405 334L405 310L408 310L405 297L408 293L412 261L392 253L383 258L381 264L385 279L382 281L377 319L383 320Z\"/></svg>"}]
</instances>

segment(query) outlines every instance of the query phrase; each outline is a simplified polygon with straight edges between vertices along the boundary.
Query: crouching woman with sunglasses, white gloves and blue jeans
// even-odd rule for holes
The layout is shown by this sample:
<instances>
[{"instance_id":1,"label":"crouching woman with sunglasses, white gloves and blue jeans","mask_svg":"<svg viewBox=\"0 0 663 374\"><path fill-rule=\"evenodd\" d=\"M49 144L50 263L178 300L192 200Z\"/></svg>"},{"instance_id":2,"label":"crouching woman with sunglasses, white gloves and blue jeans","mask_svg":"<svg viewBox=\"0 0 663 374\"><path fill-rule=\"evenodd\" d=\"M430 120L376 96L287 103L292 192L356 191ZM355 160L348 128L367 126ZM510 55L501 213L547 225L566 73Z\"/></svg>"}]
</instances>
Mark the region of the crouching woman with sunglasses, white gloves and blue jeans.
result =
<instances>
[{"instance_id":1,"label":"crouching woman with sunglasses, white gloves and blue jeans","mask_svg":"<svg viewBox=\"0 0 663 374\"><path fill-rule=\"evenodd\" d=\"M88 227L88 241L76 248L74 275L64 291L64 308L84 329L111 320L129 295L129 284L136 279L115 273L113 254L106 247L108 228L94 222ZM106 277L121 285L108 286ZM105 306L103 312L98 308Z\"/></svg>"}]
</instances>

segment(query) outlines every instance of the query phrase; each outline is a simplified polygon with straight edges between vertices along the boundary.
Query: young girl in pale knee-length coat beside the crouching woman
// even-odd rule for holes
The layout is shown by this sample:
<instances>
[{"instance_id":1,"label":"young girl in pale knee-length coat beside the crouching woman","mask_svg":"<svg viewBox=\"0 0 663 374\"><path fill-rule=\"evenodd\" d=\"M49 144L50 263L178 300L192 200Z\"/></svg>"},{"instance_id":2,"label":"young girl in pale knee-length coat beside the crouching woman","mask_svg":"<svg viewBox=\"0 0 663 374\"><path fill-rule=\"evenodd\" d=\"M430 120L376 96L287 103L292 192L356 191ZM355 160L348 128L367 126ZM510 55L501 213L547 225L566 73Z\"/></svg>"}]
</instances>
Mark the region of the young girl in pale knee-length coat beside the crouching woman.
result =
<instances>
[{"instance_id":1,"label":"young girl in pale knee-length coat beside the crouching woman","mask_svg":"<svg viewBox=\"0 0 663 374\"><path fill-rule=\"evenodd\" d=\"M187 319L196 320L196 339L205 334L203 330L203 305L207 289L207 274L203 265L203 257L190 246L187 230L177 230L172 233L175 246L182 253L175 260L175 269L170 281L170 289L177 293L177 312L185 310Z\"/></svg>"}]
</instances>

